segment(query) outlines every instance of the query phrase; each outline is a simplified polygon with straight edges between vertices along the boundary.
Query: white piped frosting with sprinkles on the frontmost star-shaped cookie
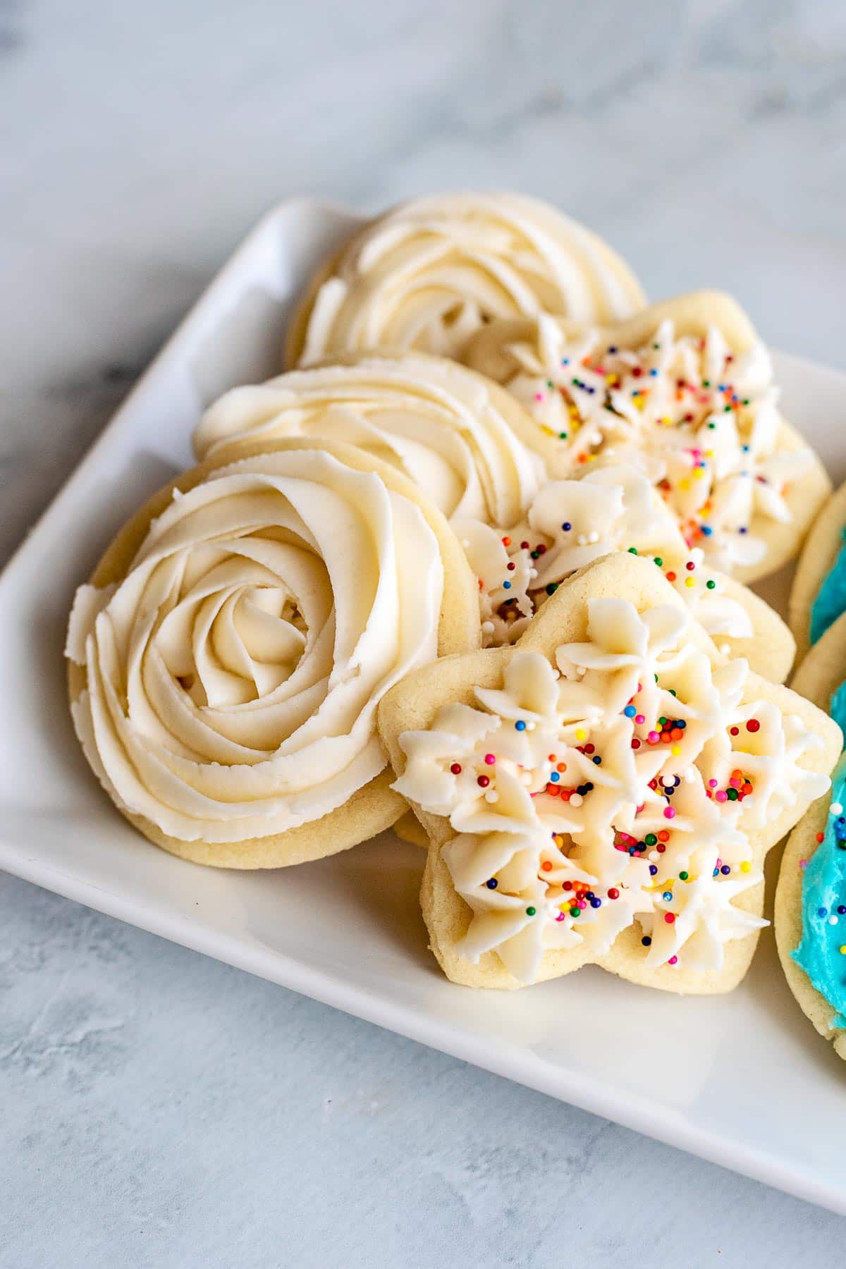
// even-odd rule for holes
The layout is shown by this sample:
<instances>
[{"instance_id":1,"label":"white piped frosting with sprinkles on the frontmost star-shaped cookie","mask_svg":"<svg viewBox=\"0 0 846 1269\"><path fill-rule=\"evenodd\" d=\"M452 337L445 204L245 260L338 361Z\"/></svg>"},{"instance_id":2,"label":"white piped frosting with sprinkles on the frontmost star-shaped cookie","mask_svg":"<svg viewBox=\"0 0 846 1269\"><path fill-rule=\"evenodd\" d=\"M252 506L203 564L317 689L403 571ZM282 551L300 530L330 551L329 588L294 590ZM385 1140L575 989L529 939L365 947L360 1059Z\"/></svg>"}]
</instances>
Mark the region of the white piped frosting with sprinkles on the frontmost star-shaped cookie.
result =
<instances>
[{"instance_id":1,"label":"white piped frosting with sprinkles on the frontmost star-shaped cookie","mask_svg":"<svg viewBox=\"0 0 846 1269\"><path fill-rule=\"evenodd\" d=\"M797 716L745 702L745 661L714 667L675 605L589 602L587 640L556 666L515 651L498 689L405 732L396 782L449 819L443 857L472 910L459 952L521 982L545 952L609 950L639 923L647 966L719 970L766 924L734 900L762 874L748 840L826 777Z\"/></svg>"}]
</instances>

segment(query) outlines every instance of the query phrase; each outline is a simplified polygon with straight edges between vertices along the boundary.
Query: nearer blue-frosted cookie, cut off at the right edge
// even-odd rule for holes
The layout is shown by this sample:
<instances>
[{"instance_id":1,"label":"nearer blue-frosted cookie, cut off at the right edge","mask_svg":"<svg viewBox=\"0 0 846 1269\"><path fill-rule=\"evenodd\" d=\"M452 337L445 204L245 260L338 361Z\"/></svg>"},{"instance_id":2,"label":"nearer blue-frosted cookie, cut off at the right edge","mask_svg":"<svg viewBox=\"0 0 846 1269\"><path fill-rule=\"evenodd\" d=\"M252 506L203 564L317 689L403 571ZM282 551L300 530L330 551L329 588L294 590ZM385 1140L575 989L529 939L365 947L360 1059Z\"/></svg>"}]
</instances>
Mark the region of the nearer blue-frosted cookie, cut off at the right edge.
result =
<instances>
[{"instance_id":1,"label":"nearer blue-frosted cookie, cut off at the right edge","mask_svg":"<svg viewBox=\"0 0 846 1269\"><path fill-rule=\"evenodd\" d=\"M794 690L846 732L846 614L814 642ZM831 793L790 834L775 893L775 938L799 1005L846 1058L846 754Z\"/></svg>"}]
</instances>

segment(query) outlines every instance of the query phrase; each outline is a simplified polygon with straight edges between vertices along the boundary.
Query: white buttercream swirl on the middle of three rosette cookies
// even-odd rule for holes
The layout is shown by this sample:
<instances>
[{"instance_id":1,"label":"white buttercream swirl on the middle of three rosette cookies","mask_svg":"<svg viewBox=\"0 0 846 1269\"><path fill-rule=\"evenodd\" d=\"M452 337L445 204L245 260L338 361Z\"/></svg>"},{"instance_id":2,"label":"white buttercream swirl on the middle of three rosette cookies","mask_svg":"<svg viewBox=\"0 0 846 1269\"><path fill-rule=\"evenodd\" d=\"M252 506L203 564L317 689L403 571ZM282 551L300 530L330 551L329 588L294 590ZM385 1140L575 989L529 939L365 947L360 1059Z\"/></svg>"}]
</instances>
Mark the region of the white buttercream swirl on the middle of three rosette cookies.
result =
<instances>
[{"instance_id":1,"label":"white buttercream swirl on the middle of three rosette cookies","mask_svg":"<svg viewBox=\"0 0 846 1269\"><path fill-rule=\"evenodd\" d=\"M441 358L367 357L233 388L205 411L193 439L207 458L233 440L292 437L356 445L408 477L462 542L486 641L516 638L534 610L530 561L524 553L511 565L502 538L556 466L554 447L507 392Z\"/></svg>"}]
</instances>

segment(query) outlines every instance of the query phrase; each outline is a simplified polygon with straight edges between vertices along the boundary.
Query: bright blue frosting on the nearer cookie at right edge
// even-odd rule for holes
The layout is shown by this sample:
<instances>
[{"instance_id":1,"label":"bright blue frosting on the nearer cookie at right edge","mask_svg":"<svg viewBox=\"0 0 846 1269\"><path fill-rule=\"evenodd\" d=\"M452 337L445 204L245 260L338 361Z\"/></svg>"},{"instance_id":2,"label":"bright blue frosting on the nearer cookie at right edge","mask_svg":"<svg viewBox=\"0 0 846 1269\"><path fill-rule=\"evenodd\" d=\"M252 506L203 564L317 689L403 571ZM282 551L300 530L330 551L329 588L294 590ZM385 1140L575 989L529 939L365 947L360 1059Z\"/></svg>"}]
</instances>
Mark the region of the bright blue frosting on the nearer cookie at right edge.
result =
<instances>
[{"instance_id":1,"label":"bright blue frosting on the nearer cookie at right edge","mask_svg":"<svg viewBox=\"0 0 846 1269\"><path fill-rule=\"evenodd\" d=\"M842 727L846 683L832 697L831 709ZM846 754L832 778L831 802L846 807ZM790 956L835 1010L832 1028L846 1027L846 954L841 947L846 947L846 815L830 815L826 835L802 878L802 940Z\"/></svg>"}]
</instances>

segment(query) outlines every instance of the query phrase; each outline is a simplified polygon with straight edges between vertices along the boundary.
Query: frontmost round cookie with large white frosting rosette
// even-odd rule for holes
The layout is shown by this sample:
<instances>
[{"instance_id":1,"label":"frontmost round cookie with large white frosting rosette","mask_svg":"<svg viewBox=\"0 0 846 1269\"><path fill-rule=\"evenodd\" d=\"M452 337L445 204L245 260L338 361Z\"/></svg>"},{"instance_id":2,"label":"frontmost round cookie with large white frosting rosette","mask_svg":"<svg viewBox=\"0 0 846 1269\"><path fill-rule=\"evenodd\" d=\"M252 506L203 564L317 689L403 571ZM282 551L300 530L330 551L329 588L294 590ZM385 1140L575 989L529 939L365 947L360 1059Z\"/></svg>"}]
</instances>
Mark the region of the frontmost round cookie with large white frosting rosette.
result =
<instances>
[{"instance_id":1,"label":"frontmost round cookie with large white frosting rosette","mask_svg":"<svg viewBox=\"0 0 846 1269\"><path fill-rule=\"evenodd\" d=\"M79 589L76 732L152 841L277 867L353 846L405 802L375 708L410 669L478 646L440 513L346 445L232 447L157 494Z\"/></svg>"}]
</instances>

